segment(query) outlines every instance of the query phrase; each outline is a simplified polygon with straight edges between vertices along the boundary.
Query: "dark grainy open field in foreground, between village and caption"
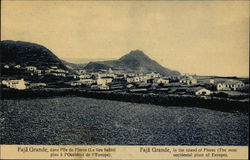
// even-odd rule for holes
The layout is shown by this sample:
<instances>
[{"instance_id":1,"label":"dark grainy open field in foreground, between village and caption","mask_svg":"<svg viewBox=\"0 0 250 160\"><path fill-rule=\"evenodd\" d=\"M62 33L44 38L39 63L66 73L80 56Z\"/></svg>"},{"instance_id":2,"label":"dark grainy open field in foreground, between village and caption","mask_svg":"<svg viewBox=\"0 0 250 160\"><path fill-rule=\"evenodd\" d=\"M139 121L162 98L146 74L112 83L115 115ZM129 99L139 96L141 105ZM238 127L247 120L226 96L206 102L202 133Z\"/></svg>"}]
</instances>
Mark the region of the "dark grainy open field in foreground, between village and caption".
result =
<instances>
[{"instance_id":1,"label":"dark grainy open field in foreground, between village and caption","mask_svg":"<svg viewBox=\"0 0 250 160\"><path fill-rule=\"evenodd\" d=\"M83 97L0 102L1 144L249 144L242 113Z\"/></svg>"}]
</instances>

